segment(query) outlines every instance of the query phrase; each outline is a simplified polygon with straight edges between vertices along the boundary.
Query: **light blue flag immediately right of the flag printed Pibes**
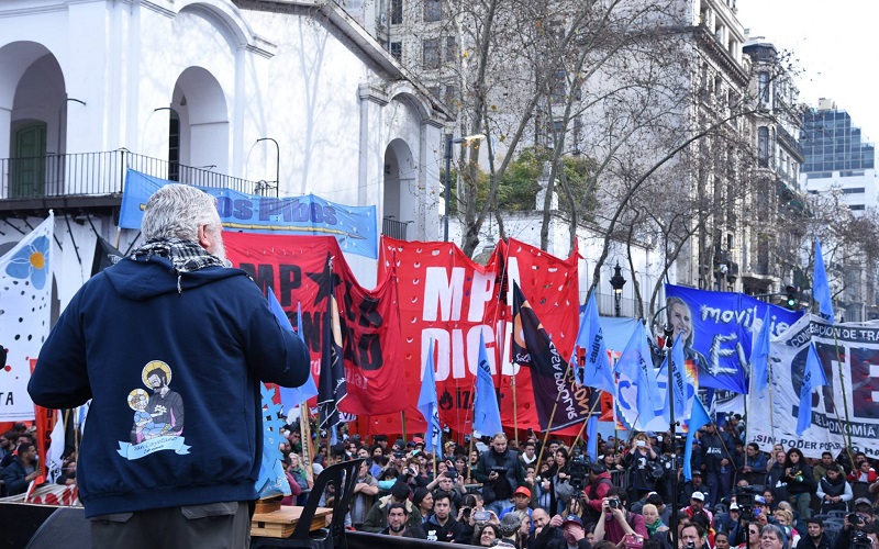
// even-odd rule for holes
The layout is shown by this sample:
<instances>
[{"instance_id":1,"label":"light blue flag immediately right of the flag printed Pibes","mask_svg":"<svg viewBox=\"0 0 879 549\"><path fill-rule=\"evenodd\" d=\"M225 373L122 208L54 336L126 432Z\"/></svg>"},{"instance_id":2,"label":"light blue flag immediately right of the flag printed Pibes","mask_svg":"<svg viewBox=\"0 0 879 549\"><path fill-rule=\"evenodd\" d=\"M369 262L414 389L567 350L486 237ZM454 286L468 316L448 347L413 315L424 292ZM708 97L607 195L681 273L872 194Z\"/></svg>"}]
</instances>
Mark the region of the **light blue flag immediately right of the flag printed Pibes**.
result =
<instances>
[{"instance_id":1,"label":"light blue flag immediately right of the flag printed Pibes","mask_svg":"<svg viewBox=\"0 0 879 549\"><path fill-rule=\"evenodd\" d=\"M625 350L616 361L614 372L620 376L616 401L626 422L635 429L648 430L647 425L654 417L663 417L665 399L659 395L644 324L638 323L635 327Z\"/></svg>"}]
</instances>

